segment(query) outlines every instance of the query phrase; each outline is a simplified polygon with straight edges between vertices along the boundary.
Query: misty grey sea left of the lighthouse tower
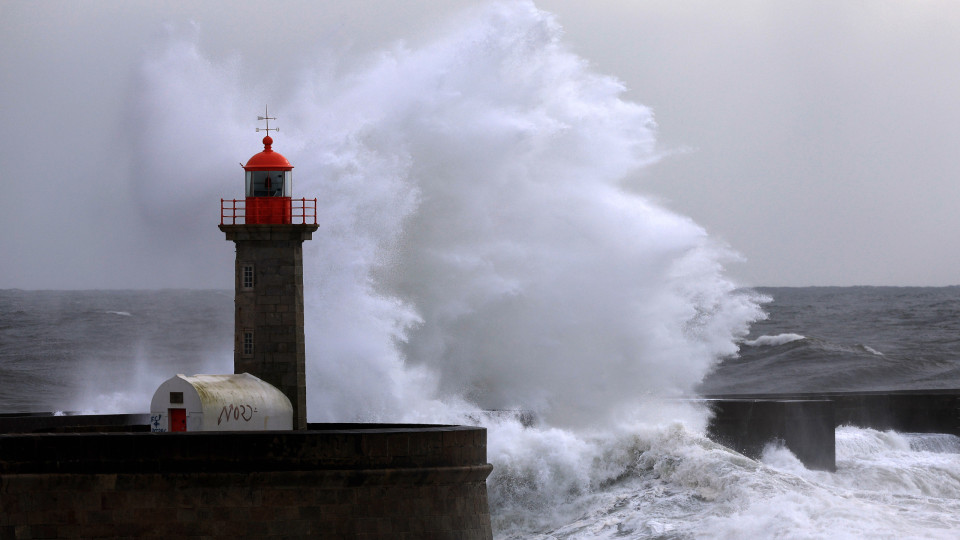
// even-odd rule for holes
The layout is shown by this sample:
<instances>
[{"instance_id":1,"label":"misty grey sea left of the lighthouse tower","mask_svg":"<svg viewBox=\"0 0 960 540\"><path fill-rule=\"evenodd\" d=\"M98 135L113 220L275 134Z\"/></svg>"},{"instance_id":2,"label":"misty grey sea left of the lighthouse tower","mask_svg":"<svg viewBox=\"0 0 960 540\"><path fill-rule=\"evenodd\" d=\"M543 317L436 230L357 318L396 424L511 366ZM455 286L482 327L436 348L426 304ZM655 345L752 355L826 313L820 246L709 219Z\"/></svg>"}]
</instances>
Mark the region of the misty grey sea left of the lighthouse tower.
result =
<instances>
[{"instance_id":1,"label":"misty grey sea left of the lighthouse tower","mask_svg":"<svg viewBox=\"0 0 960 540\"><path fill-rule=\"evenodd\" d=\"M232 291L0 290L0 412L148 412L177 373L233 371Z\"/></svg>"}]
</instances>

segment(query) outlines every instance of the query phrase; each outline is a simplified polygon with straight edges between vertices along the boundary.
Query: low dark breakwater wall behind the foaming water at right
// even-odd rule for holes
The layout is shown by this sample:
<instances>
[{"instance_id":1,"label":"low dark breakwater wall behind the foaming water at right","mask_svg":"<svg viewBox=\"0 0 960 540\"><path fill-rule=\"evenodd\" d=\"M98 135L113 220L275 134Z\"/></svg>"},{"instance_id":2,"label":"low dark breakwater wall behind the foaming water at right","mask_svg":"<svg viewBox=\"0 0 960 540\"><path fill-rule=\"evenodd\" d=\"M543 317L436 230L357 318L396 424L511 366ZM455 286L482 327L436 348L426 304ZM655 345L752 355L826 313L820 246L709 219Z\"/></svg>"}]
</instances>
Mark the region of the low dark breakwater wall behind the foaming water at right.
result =
<instances>
[{"instance_id":1,"label":"low dark breakwater wall behind the foaming water at right","mask_svg":"<svg viewBox=\"0 0 960 540\"><path fill-rule=\"evenodd\" d=\"M780 441L811 469L836 469L835 429L851 425L960 436L960 390L706 396L708 435L757 458Z\"/></svg>"}]
</instances>

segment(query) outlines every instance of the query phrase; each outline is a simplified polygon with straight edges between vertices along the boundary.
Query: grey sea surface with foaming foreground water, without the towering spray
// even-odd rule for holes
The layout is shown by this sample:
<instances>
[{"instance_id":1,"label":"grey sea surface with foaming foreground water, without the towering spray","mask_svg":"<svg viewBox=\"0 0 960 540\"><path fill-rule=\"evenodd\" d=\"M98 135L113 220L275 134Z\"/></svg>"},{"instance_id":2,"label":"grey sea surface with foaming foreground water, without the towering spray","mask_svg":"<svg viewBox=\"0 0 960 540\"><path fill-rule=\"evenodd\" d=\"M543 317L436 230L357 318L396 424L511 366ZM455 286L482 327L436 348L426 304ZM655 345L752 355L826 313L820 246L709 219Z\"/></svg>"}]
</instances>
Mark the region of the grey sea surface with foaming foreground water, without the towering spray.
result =
<instances>
[{"instance_id":1,"label":"grey sea surface with foaming foreground water, without the towering spray","mask_svg":"<svg viewBox=\"0 0 960 540\"><path fill-rule=\"evenodd\" d=\"M758 292L768 318L705 391L960 385L960 288ZM229 372L232 332L230 291L0 291L0 413L146 412L175 373ZM957 437L841 427L826 473L775 446L748 459L694 424L489 425L497 537L960 535Z\"/></svg>"}]
</instances>

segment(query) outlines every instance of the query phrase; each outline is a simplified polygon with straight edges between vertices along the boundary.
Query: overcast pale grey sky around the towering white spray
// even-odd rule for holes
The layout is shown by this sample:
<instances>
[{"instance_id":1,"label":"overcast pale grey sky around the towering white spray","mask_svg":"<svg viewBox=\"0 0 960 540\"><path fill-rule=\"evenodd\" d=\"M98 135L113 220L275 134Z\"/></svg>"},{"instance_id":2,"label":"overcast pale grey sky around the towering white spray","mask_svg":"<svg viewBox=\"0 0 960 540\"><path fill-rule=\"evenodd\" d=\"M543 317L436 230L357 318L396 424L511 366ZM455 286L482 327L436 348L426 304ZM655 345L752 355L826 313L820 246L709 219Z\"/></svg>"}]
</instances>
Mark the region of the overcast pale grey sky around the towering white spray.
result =
<instances>
[{"instance_id":1,"label":"overcast pale grey sky around the towering white spray","mask_svg":"<svg viewBox=\"0 0 960 540\"><path fill-rule=\"evenodd\" d=\"M195 25L205 58L263 85L312 56L429 39L475 3L3 0L0 288L232 286L216 200L196 232L133 202L136 73L166 28ZM536 5L653 109L670 155L630 181L742 254L740 283L960 283L960 4ZM246 161L256 140L227 150Z\"/></svg>"}]
</instances>

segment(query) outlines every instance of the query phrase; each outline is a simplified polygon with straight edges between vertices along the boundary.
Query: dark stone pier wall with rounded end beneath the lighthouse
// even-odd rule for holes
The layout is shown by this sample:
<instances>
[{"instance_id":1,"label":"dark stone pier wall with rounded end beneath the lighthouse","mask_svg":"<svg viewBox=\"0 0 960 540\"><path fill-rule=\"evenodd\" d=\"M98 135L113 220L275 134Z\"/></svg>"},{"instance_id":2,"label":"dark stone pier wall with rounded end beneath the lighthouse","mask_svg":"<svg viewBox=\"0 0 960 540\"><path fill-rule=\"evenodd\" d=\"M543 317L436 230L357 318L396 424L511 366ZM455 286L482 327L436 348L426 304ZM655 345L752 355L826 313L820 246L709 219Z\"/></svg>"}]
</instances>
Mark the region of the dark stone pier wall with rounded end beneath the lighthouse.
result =
<instances>
[{"instance_id":1,"label":"dark stone pier wall with rounded end beneath the lighthouse","mask_svg":"<svg viewBox=\"0 0 960 540\"><path fill-rule=\"evenodd\" d=\"M43 429L0 434L0 538L492 538L483 428Z\"/></svg>"}]
</instances>

